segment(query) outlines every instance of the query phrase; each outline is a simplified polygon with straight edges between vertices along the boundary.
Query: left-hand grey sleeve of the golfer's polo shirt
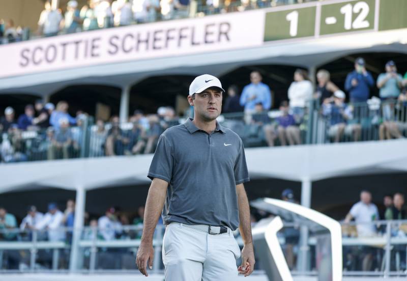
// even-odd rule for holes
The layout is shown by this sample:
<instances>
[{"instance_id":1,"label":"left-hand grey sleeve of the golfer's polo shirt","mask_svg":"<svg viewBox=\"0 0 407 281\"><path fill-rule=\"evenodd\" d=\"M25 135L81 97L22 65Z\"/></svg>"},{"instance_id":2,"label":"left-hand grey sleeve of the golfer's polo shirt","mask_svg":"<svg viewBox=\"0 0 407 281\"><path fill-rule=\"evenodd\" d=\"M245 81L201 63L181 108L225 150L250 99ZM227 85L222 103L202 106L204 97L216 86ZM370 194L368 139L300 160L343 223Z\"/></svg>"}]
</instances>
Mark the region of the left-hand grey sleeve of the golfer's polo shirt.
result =
<instances>
[{"instance_id":1,"label":"left-hand grey sleeve of the golfer's polo shirt","mask_svg":"<svg viewBox=\"0 0 407 281\"><path fill-rule=\"evenodd\" d=\"M151 180L159 178L169 183L172 178L173 164L172 146L166 134L163 133L158 139L157 149L151 161L148 177Z\"/></svg>"}]
</instances>

